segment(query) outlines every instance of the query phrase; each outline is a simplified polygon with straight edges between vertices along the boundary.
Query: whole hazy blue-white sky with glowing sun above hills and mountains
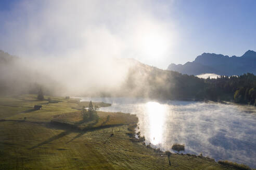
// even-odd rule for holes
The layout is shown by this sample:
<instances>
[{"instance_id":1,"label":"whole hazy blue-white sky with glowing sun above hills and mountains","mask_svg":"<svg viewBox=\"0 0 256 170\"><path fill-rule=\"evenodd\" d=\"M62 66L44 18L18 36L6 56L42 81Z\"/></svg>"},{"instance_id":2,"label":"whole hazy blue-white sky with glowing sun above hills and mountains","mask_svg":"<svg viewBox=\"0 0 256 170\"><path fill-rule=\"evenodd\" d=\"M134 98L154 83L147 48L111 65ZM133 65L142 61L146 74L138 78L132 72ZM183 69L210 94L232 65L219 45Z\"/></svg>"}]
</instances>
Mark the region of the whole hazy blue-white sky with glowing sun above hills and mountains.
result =
<instances>
[{"instance_id":1,"label":"whole hazy blue-white sky with glowing sun above hills and mountains","mask_svg":"<svg viewBox=\"0 0 256 170\"><path fill-rule=\"evenodd\" d=\"M167 68L256 50L256 1L0 1L0 49L27 58L135 58Z\"/></svg>"}]
</instances>

